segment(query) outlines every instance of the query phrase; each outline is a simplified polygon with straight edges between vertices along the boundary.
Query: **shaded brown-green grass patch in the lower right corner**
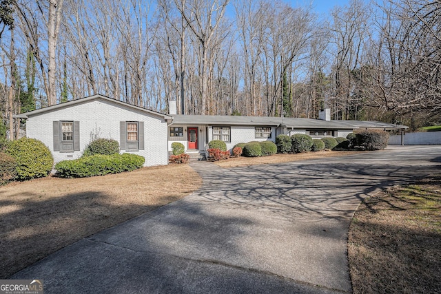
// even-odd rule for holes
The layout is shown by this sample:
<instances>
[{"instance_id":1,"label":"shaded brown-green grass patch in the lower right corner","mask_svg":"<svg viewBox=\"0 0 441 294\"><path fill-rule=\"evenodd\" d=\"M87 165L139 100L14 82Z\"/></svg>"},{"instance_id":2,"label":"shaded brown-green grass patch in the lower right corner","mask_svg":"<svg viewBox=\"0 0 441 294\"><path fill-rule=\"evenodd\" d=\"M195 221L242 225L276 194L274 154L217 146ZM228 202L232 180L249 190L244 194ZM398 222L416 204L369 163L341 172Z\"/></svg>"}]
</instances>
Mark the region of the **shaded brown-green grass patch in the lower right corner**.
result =
<instances>
[{"instance_id":1,"label":"shaded brown-green grass patch in the lower right corner","mask_svg":"<svg viewBox=\"0 0 441 294\"><path fill-rule=\"evenodd\" d=\"M360 204L349 229L353 293L440 293L441 174Z\"/></svg>"}]
</instances>

